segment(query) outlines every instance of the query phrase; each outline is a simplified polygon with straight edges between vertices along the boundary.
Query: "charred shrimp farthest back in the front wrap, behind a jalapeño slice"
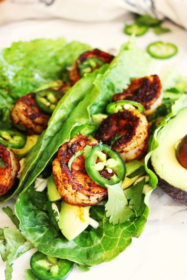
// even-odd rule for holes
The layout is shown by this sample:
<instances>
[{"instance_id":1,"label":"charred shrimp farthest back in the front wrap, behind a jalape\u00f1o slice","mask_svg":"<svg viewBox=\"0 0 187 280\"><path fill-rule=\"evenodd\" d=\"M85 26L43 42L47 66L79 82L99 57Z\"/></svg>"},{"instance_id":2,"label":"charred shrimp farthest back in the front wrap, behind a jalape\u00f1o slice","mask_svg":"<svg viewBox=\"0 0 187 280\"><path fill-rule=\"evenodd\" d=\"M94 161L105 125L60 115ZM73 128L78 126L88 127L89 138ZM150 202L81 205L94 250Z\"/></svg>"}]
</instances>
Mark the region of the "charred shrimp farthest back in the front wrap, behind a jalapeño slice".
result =
<instances>
[{"instance_id":1,"label":"charred shrimp farthest back in the front wrap, behind a jalape\u00f1o slice","mask_svg":"<svg viewBox=\"0 0 187 280\"><path fill-rule=\"evenodd\" d=\"M113 96L113 101L132 100L143 105L145 114L152 114L162 104L163 91L161 81L157 75L133 78L131 84L122 93Z\"/></svg>"}]
</instances>

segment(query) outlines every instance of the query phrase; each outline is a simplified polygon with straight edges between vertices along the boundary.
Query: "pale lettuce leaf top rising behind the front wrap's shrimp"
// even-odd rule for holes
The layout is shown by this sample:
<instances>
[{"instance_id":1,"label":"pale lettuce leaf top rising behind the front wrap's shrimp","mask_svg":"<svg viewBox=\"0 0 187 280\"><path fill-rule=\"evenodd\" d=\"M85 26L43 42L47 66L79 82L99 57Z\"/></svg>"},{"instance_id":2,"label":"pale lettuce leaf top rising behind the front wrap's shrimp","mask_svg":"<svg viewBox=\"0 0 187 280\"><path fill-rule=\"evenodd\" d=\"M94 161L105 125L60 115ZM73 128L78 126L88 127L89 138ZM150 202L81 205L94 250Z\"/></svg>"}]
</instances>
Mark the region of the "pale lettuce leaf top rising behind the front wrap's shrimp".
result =
<instances>
[{"instance_id":1,"label":"pale lettuce leaf top rising behind the front wrap's shrimp","mask_svg":"<svg viewBox=\"0 0 187 280\"><path fill-rule=\"evenodd\" d=\"M133 38L123 44L118 56L110 63L104 78L98 77L101 78L100 94L90 106L90 114L104 112L114 93L126 88L133 77L140 78L152 74L152 69L154 60L137 47Z\"/></svg>"}]
</instances>

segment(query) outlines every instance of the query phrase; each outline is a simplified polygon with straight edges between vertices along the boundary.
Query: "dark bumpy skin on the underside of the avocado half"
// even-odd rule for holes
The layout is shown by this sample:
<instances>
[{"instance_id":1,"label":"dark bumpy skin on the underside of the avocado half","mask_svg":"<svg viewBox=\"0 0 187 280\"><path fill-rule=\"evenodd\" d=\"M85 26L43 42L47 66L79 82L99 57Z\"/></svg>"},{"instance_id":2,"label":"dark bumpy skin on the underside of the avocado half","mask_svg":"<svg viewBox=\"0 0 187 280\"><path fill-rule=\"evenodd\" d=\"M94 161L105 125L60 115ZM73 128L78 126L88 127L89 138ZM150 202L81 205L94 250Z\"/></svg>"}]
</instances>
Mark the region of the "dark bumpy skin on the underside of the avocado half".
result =
<instances>
[{"instance_id":1,"label":"dark bumpy skin on the underside of the avocado half","mask_svg":"<svg viewBox=\"0 0 187 280\"><path fill-rule=\"evenodd\" d=\"M158 174L156 174L156 176L158 178L157 186L159 186L159 188L161 188L171 198L187 206L187 192L170 185L168 182L161 179Z\"/></svg>"}]
</instances>

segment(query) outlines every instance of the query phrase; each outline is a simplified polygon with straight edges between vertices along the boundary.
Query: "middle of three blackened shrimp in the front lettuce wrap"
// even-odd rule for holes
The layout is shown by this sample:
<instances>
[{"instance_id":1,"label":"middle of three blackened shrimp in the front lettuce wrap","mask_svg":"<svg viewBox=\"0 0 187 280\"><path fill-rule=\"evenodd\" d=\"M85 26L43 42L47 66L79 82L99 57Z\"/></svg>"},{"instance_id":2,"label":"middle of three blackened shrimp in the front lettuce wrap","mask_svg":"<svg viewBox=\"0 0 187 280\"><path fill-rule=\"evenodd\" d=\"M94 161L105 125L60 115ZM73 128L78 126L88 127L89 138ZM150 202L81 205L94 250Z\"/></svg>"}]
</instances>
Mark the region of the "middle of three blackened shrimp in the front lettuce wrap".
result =
<instances>
[{"instance_id":1,"label":"middle of three blackened shrimp in the front lettuce wrap","mask_svg":"<svg viewBox=\"0 0 187 280\"><path fill-rule=\"evenodd\" d=\"M122 136L121 136L122 135ZM121 136L117 139L118 136ZM109 115L96 131L95 138L116 150L125 162L141 158L147 150L148 123L138 110Z\"/></svg>"}]
</instances>

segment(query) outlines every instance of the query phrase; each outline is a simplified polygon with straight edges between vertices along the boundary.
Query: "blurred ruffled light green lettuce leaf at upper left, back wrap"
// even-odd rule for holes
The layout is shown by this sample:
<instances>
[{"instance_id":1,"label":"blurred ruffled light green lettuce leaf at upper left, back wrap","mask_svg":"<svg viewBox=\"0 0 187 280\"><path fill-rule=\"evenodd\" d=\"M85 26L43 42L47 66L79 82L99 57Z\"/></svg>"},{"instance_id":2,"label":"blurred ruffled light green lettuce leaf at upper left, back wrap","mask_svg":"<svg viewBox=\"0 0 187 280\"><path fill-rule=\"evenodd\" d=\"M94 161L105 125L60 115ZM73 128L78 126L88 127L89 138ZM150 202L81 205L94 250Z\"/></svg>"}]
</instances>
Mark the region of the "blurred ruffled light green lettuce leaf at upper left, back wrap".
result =
<instances>
[{"instance_id":1,"label":"blurred ruffled light green lettuce leaf at upper left, back wrap","mask_svg":"<svg viewBox=\"0 0 187 280\"><path fill-rule=\"evenodd\" d=\"M15 100L60 79L62 71L89 49L90 46L76 41L67 44L63 38L13 43L0 52L0 88L2 84Z\"/></svg>"}]
</instances>

